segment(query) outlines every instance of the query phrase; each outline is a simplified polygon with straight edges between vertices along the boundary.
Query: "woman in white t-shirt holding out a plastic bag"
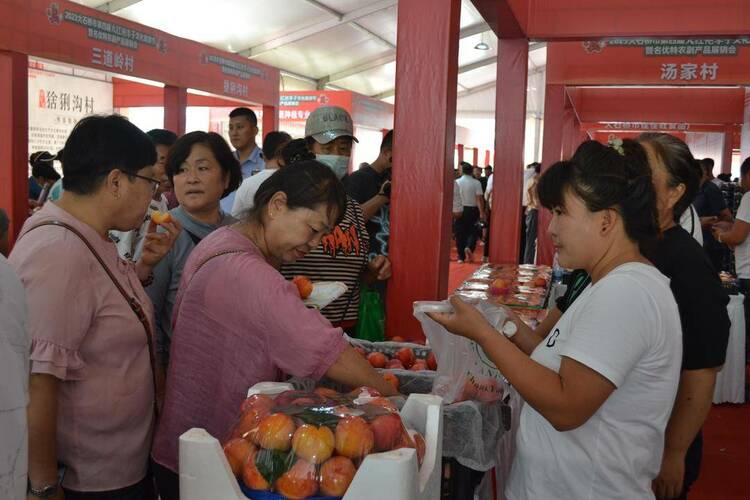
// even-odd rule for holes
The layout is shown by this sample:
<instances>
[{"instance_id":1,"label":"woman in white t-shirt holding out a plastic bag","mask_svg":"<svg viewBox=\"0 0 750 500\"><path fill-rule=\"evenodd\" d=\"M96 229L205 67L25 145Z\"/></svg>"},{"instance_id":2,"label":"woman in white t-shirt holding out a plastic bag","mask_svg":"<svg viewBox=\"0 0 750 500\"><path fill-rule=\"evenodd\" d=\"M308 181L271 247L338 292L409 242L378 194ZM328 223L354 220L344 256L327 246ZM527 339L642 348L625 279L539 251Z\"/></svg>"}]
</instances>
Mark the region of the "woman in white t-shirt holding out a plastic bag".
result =
<instances>
[{"instance_id":1,"label":"woman in white t-shirt holding out a plastic bag","mask_svg":"<svg viewBox=\"0 0 750 500\"><path fill-rule=\"evenodd\" d=\"M508 339L455 297L433 318L477 342L526 402L508 499L654 498L682 334L668 280L641 253L657 234L645 152L587 141L538 193L560 265L592 284L546 338L517 322Z\"/></svg>"}]
</instances>

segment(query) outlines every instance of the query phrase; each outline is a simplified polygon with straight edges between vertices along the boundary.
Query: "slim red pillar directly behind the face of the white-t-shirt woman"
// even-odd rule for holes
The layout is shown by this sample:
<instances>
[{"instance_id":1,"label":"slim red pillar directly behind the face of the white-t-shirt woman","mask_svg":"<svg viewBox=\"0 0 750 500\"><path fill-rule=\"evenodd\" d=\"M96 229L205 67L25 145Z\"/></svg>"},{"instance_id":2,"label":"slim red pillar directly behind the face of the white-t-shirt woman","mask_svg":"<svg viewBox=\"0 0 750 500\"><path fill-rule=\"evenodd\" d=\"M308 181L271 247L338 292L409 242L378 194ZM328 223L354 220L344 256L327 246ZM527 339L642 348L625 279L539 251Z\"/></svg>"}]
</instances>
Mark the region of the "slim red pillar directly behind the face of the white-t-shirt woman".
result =
<instances>
[{"instance_id":1,"label":"slim red pillar directly behind the face of the white-t-shirt woman","mask_svg":"<svg viewBox=\"0 0 750 500\"><path fill-rule=\"evenodd\" d=\"M565 87L547 85L544 96L544 135L542 139L542 171L561 160L562 128L565 114ZM547 236L547 227L552 218L549 210L542 208L539 212L539 230L537 233L537 263L552 265L555 249Z\"/></svg>"}]
</instances>

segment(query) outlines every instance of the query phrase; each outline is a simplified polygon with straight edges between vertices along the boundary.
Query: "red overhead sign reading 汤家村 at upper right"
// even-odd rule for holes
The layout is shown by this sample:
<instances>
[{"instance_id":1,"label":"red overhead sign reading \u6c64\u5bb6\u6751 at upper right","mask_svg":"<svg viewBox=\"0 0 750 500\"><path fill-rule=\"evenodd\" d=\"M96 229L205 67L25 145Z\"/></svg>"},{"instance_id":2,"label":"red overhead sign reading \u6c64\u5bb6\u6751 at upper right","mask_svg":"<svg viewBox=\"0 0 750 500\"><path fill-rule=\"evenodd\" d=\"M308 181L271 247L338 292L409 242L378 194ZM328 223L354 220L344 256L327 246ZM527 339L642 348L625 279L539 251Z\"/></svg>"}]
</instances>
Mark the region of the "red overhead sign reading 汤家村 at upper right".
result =
<instances>
[{"instance_id":1,"label":"red overhead sign reading \u6c64\u5bb6\u6751 at upper right","mask_svg":"<svg viewBox=\"0 0 750 500\"><path fill-rule=\"evenodd\" d=\"M547 45L547 83L749 84L750 37L551 42Z\"/></svg>"}]
</instances>

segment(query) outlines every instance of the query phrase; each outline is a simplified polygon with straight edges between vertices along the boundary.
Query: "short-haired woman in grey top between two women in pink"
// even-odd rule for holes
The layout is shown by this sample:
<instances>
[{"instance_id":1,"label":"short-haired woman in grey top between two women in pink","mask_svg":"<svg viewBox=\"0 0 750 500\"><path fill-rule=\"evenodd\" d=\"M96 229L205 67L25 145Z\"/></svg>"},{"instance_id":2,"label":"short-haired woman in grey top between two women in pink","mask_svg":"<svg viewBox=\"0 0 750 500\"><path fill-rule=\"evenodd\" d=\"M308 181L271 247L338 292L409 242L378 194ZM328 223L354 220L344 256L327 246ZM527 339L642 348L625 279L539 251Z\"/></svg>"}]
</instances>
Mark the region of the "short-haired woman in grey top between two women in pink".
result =
<instances>
[{"instance_id":1,"label":"short-haired woman in grey top between two women in pink","mask_svg":"<svg viewBox=\"0 0 750 500\"><path fill-rule=\"evenodd\" d=\"M196 131L180 137L169 150L166 171L180 202L169 213L183 231L154 270L153 283L146 287L156 314L157 357L163 367L169 363L172 308L182 269L203 238L235 222L221 210L219 201L242 182L239 162L224 138L214 132Z\"/></svg>"}]
</instances>

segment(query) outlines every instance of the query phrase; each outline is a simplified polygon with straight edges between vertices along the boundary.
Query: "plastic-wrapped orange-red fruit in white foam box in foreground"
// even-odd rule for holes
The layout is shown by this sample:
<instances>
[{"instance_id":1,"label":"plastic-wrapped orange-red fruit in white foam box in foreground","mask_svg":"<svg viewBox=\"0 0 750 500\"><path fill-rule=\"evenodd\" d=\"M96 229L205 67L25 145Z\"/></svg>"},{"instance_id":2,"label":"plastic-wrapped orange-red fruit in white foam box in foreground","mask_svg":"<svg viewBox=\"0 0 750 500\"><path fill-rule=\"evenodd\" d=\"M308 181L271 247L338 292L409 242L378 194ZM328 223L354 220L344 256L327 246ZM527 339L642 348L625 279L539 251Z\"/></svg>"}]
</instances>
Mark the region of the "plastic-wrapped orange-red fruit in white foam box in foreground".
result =
<instances>
[{"instance_id":1,"label":"plastic-wrapped orange-red fruit in white foam box in foreground","mask_svg":"<svg viewBox=\"0 0 750 500\"><path fill-rule=\"evenodd\" d=\"M250 396L223 448L250 498L275 492L298 499L343 496L370 453L414 448L421 465L425 441L374 389L341 394L318 387Z\"/></svg>"}]
</instances>

